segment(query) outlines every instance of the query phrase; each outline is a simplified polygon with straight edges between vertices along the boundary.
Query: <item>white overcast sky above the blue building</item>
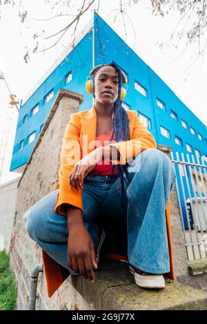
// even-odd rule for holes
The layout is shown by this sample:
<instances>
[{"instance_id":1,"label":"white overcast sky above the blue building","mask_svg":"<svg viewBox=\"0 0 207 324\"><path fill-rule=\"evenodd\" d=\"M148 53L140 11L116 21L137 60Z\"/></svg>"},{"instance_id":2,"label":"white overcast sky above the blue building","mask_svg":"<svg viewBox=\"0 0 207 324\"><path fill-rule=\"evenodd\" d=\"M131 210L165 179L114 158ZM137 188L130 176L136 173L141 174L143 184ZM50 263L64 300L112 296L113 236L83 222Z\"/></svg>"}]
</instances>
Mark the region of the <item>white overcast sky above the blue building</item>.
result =
<instances>
[{"instance_id":1,"label":"white overcast sky above the blue building","mask_svg":"<svg viewBox=\"0 0 207 324\"><path fill-rule=\"evenodd\" d=\"M63 38L63 42L59 43L55 48L47 50L45 53L33 54L28 64L26 64L23 61L23 54L26 53L26 45L34 45L32 35L37 28L41 27L41 30L44 29L48 31L46 35L49 36L66 26L68 17L57 17L45 23L36 21L34 19L52 17L54 15L54 10L50 13L43 0L24 0L23 2L30 3L29 8L27 8L28 19L32 28L23 28L23 25L19 23L17 10L11 7L4 8L0 20L0 70L3 70L12 93L16 94L19 99L26 97L26 94L33 85L41 78L46 70L50 68L50 65L54 63L61 52L63 52L65 46L68 43L72 43L71 32L68 32L66 33L66 37ZM79 3L82 3L82 1L79 0ZM152 16L150 1L142 1L131 8L125 8L137 34L135 41L134 31L126 15L124 15L124 17L127 35L125 34L121 14L119 14L114 21L117 12L113 10L118 8L118 3L118 0L100 1L99 14L101 18L104 19L106 23L126 41L130 48L132 48L139 57L159 75L171 90L175 92L177 97L179 97L179 99L181 99L181 101L183 101L205 125L207 125L205 86L207 55L203 57L203 60L199 59L195 65L190 67L197 54L197 43L190 45L181 57L179 57L179 55L186 45L184 41L177 50L175 50L173 46L173 44L177 42L176 39L169 43L168 47L164 47L162 50L156 45L157 41L168 41L170 39L172 30L175 28L179 19L178 13L174 12L166 16L165 19ZM95 7L82 17L77 28L77 33L81 31L83 26L92 18L94 8ZM76 12L77 11L74 10L70 13ZM47 46L51 45L51 43L42 41L41 45ZM0 80L0 143L3 132L2 125L5 124L9 99L6 86L3 81ZM15 176L19 175L8 172L17 119L18 113L16 109L13 109L2 183L14 179Z\"/></svg>"}]
</instances>

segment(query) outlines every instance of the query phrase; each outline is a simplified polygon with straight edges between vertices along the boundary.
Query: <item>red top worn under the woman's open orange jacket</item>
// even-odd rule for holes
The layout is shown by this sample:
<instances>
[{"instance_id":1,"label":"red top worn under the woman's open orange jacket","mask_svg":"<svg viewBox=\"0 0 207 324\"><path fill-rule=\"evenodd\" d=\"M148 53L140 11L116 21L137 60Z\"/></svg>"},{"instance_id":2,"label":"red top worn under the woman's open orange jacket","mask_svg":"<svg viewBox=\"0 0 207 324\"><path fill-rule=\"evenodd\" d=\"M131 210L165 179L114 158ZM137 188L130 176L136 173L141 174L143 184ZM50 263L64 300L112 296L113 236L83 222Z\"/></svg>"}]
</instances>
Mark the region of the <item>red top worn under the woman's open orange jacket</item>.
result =
<instances>
[{"instance_id":1,"label":"red top worn under the woman's open orange jacket","mask_svg":"<svg viewBox=\"0 0 207 324\"><path fill-rule=\"evenodd\" d=\"M95 138L95 148L99 148L100 146L106 146L110 143L110 136L112 134L112 130L108 134L99 135ZM115 141L115 134L113 136L113 140ZM88 174L94 176L106 176L110 175L112 172L112 162L109 159L102 159L95 165ZM117 165L114 165L114 170L112 174L118 174Z\"/></svg>"}]
</instances>

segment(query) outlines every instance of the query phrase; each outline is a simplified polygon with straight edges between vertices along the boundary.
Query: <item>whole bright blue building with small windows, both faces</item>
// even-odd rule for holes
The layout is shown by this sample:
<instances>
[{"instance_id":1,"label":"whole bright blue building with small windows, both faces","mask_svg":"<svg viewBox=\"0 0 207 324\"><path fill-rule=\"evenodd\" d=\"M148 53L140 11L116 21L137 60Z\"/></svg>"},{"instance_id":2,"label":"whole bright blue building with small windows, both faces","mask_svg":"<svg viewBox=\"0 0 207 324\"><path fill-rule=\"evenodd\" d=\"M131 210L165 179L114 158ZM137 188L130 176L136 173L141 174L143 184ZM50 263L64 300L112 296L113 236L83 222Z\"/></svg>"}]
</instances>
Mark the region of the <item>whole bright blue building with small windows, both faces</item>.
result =
<instances>
[{"instance_id":1,"label":"whole bright blue building with small windows, both faces","mask_svg":"<svg viewBox=\"0 0 207 324\"><path fill-rule=\"evenodd\" d=\"M82 94L80 110L90 109L88 74L93 66L110 61L128 76L124 107L137 110L157 143L171 146L174 152L207 157L206 125L95 12L73 52L68 49L21 101L10 171L23 171L59 89Z\"/></svg>"}]
</instances>

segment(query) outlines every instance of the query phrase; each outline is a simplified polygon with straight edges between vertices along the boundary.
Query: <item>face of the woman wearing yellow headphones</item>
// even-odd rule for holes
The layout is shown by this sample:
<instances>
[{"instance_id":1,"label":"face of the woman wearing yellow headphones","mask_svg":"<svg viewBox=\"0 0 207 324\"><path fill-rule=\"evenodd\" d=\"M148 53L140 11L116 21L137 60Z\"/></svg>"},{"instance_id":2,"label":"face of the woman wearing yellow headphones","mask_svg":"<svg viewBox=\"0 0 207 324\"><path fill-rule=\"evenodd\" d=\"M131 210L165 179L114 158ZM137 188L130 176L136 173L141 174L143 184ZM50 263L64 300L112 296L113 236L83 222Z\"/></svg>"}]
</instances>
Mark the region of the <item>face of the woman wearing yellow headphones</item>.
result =
<instances>
[{"instance_id":1,"label":"face of the woman wearing yellow headphones","mask_svg":"<svg viewBox=\"0 0 207 324\"><path fill-rule=\"evenodd\" d=\"M118 97L118 74L110 65L100 68L94 77L95 99L103 105L114 103ZM108 92L108 93L107 93Z\"/></svg>"}]
</instances>

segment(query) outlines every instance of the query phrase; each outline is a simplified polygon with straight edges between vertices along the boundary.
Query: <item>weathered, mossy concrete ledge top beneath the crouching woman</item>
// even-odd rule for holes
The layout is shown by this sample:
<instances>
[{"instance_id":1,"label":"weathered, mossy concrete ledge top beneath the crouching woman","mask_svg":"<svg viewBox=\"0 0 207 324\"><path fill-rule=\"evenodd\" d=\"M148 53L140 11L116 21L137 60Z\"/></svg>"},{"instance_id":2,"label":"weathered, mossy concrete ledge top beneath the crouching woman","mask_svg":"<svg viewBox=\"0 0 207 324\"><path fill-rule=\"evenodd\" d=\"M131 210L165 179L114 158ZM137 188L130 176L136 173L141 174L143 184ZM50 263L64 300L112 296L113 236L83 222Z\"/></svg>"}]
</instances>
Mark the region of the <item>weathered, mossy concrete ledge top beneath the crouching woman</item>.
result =
<instances>
[{"instance_id":1,"label":"weathered, mossy concrete ledge top beneath the crouching woman","mask_svg":"<svg viewBox=\"0 0 207 324\"><path fill-rule=\"evenodd\" d=\"M96 282L79 276L69 281L94 310L207 310L207 294L166 279L163 290L139 288L128 265L121 261L99 261Z\"/></svg>"}]
</instances>

